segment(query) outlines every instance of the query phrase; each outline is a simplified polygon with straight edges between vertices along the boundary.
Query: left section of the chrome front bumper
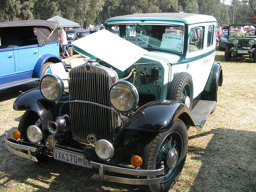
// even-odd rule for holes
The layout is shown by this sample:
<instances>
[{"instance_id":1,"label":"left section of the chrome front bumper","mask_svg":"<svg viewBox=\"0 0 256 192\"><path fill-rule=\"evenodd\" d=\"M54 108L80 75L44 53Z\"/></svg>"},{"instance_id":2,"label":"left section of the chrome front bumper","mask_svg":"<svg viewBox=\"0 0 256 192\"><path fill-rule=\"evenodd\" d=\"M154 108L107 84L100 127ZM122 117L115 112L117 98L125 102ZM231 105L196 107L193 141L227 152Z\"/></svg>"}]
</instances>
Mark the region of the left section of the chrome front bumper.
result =
<instances>
[{"instance_id":1,"label":"left section of the chrome front bumper","mask_svg":"<svg viewBox=\"0 0 256 192\"><path fill-rule=\"evenodd\" d=\"M20 145L20 144L13 143L13 142L9 141L8 140L8 133L5 134L5 144L6 144L7 150L9 152L11 152L11 153L13 153L15 155L18 155L20 157L24 157L24 158L30 159L32 161L38 162L37 159L34 156L31 155L31 152L35 152L37 150L37 148L29 147L29 146L26 146L26 145ZM16 150L13 150L9 146L12 146L12 147L15 147L15 148L19 148L20 150L26 150L26 151L28 151L28 154L25 154L23 152L18 152Z\"/></svg>"}]
</instances>

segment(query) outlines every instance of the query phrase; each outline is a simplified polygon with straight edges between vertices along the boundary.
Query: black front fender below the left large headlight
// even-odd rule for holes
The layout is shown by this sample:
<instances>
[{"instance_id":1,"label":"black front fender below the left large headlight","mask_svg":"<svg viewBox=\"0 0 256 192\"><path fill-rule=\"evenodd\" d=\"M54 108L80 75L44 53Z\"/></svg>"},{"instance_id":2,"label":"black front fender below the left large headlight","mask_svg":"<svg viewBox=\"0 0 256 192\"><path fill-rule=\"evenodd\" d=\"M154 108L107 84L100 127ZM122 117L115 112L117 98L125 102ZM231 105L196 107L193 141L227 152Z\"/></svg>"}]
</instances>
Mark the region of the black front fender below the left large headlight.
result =
<instances>
[{"instance_id":1,"label":"black front fender below the left large headlight","mask_svg":"<svg viewBox=\"0 0 256 192\"><path fill-rule=\"evenodd\" d=\"M69 96L67 94L63 94L60 98L61 100L68 100ZM36 112L41 119L42 129L47 130L47 122L54 121L55 117L59 114L61 104L53 103L46 100L39 90L39 88L35 88L29 90L22 95L19 95L13 103L13 109L16 111L34 111ZM69 108L62 109L67 114ZM54 117L55 116L55 117Z\"/></svg>"}]
</instances>

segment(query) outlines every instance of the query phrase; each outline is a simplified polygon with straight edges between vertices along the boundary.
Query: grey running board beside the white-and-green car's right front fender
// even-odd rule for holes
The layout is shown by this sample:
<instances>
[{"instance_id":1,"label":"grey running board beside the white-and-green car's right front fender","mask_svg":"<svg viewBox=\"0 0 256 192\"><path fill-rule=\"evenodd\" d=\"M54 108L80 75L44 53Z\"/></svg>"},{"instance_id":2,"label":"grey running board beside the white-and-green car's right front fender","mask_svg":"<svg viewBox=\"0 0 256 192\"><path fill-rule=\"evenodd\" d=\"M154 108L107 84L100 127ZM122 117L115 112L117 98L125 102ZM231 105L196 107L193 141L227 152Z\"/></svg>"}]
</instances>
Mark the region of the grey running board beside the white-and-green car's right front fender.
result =
<instances>
[{"instance_id":1,"label":"grey running board beside the white-and-green car's right front fender","mask_svg":"<svg viewBox=\"0 0 256 192\"><path fill-rule=\"evenodd\" d=\"M200 100L191 111L196 124L202 129L212 109L216 107L216 101Z\"/></svg>"}]
</instances>

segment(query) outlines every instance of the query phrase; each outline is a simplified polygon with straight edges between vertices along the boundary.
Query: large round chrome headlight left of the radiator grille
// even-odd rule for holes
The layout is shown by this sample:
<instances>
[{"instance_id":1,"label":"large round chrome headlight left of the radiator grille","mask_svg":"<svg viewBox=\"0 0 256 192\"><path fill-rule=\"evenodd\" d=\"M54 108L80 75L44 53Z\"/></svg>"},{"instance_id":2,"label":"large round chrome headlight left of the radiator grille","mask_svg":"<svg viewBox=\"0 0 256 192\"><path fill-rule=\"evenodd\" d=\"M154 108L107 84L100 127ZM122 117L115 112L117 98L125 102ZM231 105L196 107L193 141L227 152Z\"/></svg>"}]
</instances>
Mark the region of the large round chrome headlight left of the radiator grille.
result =
<instances>
[{"instance_id":1,"label":"large round chrome headlight left of the radiator grille","mask_svg":"<svg viewBox=\"0 0 256 192\"><path fill-rule=\"evenodd\" d=\"M58 100L64 92L62 80L53 74L43 76L39 83L40 92L49 101Z\"/></svg>"}]
</instances>

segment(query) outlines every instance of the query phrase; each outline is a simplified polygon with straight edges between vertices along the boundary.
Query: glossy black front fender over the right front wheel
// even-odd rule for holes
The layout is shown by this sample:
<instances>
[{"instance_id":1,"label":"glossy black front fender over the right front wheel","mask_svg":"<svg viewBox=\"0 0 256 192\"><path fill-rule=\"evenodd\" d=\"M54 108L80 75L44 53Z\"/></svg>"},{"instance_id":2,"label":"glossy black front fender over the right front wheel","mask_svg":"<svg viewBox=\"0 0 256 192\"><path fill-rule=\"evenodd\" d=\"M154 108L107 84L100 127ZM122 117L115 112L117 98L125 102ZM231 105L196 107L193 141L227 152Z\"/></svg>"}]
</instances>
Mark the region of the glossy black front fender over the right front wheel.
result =
<instances>
[{"instance_id":1,"label":"glossy black front fender over the right front wheel","mask_svg":"<svg viewBox=\"0 0 256 192\"><path fill-rule=\"evenodd\" d=\"M114 141L115 160L130 163L132 156L142 153L141 149L145 142L170 129L178 118L187 127L197 127L190 111L183 103L157 100L141 106L126 121Z\"/></svg>"}]
</instances>

